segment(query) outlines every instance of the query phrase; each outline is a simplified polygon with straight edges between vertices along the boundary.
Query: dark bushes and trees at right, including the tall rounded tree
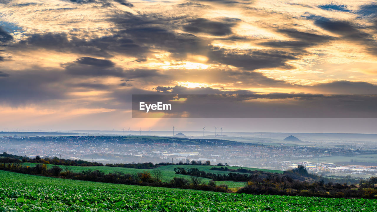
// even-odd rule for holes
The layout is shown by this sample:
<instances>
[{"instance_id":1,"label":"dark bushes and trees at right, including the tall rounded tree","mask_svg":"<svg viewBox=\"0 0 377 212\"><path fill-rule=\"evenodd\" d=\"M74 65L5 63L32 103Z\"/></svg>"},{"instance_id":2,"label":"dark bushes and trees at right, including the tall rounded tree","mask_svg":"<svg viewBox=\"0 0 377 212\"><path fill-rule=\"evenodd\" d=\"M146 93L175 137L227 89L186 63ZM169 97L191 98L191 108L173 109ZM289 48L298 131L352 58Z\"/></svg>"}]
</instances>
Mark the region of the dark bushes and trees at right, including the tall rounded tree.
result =
<instances>
[{"instance_id":1,"label":"dark bushes and trees at right, including the tall rounded tree","mask_svg":"<svg viewBox=\"0 0 377 212\"><path fill-rule=\"evenodd\" d=\"M369 180L360 180L360 186L346 183L334 183L325 181L317 176L313 180L304 166L298 166L285 174L253 171L254 174L228 173L215 174L200 171L197 168L185 169L177 167L176 174L190 175L191 177L205 177L212 180L228 180L247 182L247 186L238 190L238 193L268 194L268 195L300 195L333 198L377 198L376 177ZM303 179L303 180L302 180ZM309 181L312 181L310 183Z\"/></svg>"}]
</instances>

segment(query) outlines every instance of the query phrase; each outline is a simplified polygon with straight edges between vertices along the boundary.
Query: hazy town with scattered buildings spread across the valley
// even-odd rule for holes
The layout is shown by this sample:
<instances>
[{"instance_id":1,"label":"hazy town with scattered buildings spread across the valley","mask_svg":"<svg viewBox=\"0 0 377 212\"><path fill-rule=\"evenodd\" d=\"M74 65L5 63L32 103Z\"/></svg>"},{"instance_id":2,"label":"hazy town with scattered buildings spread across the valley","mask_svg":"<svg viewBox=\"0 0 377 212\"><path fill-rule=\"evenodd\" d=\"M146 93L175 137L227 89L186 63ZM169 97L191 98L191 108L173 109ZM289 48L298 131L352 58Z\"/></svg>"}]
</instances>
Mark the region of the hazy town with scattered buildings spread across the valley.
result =
<instances>
[{"instance_id":1,"label":"hazy town with scattered buildings spread across the valley","mask_svg":"<svg viewBox=\"0 0 377 212\"><path fill-rule=\"evenodd\" d=\"M0 151L27 157L63 157L98 163L145 163L195 160L211 164L288 170L298 164L316 174L370 176L377 174L373 149L261 145L215 139L152 136L0 137ZM358 157L360 156L360 157ZM332 158L360 158L331 161ZM347 160L347 159L346 159Z\"/></svg>"}]
</instances>

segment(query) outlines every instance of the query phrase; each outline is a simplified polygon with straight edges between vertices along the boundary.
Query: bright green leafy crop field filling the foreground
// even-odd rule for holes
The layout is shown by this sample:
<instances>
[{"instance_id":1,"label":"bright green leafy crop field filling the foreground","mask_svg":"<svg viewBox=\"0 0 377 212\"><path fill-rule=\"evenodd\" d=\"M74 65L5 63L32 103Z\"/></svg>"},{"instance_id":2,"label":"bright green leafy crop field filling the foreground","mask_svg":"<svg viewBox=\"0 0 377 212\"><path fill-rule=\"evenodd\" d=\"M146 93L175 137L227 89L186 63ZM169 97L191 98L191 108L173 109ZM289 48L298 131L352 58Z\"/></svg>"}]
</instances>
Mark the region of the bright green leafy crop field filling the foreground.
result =
<instances>
[{"instance_id":1,"label":"bright green leafy crop field filling the foreground","mask_svg":"<svg viewBox=\"0 0 377 212\"><path fill-rule=\"evenodd\" d=\"M376 200L249 194L95 183L0 171L0 212L377 212Z\"/></svg>"}]
</instances>

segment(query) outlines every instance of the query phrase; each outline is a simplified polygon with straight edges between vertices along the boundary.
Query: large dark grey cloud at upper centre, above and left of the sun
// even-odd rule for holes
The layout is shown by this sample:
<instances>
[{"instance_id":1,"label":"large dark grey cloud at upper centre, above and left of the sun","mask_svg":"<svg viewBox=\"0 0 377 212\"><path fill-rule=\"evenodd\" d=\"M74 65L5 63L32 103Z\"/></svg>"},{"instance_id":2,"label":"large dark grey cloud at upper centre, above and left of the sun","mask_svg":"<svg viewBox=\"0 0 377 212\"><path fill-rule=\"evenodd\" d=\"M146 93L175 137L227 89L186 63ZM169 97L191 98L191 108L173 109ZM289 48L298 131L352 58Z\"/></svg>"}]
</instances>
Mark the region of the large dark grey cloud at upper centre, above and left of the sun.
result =
<instances>
[{"instance_id":1,"label":"large dark grey cloud at upper centre, above and left of the sun","mask_svg":"<svg viewBox=\"0 0 377 212\"><path fill-rule=\"evenodd\" d=\"M149 51L167 51L173 58L185 58L187 53L205 54L209 41L188 33L176 33L185 23L184 17L155 17L133 15L128 12L110 20L118 28L118 36L132 39L136 45Z\"/></svg>"}]
</instances>

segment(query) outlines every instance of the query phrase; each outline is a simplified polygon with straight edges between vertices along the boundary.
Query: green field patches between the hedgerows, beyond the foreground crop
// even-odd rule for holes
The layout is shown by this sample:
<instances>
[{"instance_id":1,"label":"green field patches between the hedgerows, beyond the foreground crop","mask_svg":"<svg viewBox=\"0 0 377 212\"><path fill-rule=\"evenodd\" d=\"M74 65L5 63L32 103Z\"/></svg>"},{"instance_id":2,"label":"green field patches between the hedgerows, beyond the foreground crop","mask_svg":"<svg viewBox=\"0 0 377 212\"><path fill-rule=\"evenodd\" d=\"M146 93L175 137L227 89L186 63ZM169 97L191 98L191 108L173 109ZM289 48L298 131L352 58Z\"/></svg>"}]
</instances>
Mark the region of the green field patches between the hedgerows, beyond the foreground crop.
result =
<instances>
[{"instance_id":1,"label":"green field patches between the hedgerows, beyond the foreground crop","mask_svg":"<svg viewBox=\"0 0 377 212\"><path fill-rule=\"evenodd\" d=\"M35 166L36 163L25 163L24 166ZM57 166L57 165L52 165L52 164L46 164L47 168L50 169L52 166ZM59 165L58 165L59 166ZM174 165L172 165L174 166ZM62 169L64 169L65 166L59 166L61 167ZM81 172L81 171L86 171L86 170L89 170L91 169L92 171L95 171L95 170L100 170L100 171L103 171L105 174L108 174L110 172L123 172L123 173L138 173L138 172L143 172L145 170L147 171L152 171L152 169L132 169L132 168L122 168L122 167L110 167L110 166L69 166L71 171L72 172ZM165 167L165 166L164 166ZM171 167L171 166L166 166L166 167ZM185 167L185 168L192 168L194 166L176 166L176 167ZM197 166L195 166L197 167ZM206 166L204 166L206 167ZM161 169L162 167L158 167L158 169ZM175 174L175 171L173 171L174 167L173 168L168 168L168 169L161 169L161 172L162 172L162 181L170 181L172 180L174 177L183 177L183 178L186 178L187 180L189 180L190 176L189 175L181 175L181 174ZM207 168L210 170L210 168ZM210 170L210 171L214 171L216 172L215 170ZM218 172L221 172L221 171L218 171ZM228 172L224 172L225 174L227 174ZM210 181L210 179L208 178L201 178L203 182L205 183L208 183ZM215 181L217 185L221 185L221 184L226 184L229 188L239 188L239 187L244 187L246 186L246 183L244 182L234 182L234 181Z\"/></svg>"}]
</instances>

